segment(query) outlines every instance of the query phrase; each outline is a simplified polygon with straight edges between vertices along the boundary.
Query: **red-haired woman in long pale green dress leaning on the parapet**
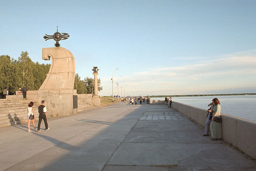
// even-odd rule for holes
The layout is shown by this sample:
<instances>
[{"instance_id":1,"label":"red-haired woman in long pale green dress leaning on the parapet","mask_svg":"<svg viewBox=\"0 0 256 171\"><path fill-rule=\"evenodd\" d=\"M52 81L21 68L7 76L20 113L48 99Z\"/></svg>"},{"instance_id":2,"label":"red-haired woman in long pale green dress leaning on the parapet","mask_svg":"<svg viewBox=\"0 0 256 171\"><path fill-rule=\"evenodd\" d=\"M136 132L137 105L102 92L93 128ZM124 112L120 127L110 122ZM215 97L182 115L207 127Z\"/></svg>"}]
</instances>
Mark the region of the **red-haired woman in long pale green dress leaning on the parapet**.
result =
<instances>
[{"instance_id":1,"label":"red-haired woman in long pale green dress leaning on the parapet","mask_svg":"<svg viewBox=\"0 0 256 171\"><path fill-rule=\"evenodd\" d=\"M212 122L210 124L211 140L218 140L222 138L221 132L221 116L220 116L220 101L217 98L212 99L214 107L212 109Z\"/></svg>"}]
</instances>

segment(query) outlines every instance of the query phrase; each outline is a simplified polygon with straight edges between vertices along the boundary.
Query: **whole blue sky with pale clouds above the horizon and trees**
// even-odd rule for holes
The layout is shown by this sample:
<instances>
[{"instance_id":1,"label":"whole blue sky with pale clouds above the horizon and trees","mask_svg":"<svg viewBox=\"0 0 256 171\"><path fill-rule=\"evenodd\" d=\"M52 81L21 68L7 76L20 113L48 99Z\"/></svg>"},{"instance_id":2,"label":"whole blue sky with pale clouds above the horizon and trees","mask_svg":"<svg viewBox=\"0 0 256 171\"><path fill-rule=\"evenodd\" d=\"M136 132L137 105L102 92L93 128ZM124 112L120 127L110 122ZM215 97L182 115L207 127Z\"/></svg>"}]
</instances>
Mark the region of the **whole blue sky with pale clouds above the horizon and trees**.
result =
<instances>
[{"instance_id":1,"label":"whole blue sky with pale clouds above the horizon and trees","mask_svg":"<svg viewBox=\"0 0 256 171\"><path fill-rule=\"evenodd\" d=\"M256 93L255 9L255 0L0 0L0 55L51 63L42 48L55 41L43 37L58 26L81 79L100 69L99 95L112 94L113 72L123 96Z\"/></svg>"}]
</instances>

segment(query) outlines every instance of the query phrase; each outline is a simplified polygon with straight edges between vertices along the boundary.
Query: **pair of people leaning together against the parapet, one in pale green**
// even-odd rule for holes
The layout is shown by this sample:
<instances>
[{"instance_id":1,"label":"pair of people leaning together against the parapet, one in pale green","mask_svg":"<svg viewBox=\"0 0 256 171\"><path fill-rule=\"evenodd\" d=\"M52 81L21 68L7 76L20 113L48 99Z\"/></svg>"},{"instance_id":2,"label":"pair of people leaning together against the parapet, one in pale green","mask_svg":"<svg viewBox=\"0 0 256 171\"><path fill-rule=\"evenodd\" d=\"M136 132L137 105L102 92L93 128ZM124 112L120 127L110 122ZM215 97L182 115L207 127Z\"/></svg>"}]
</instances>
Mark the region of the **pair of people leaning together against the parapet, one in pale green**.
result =
<instances>
[{"instance_id":1,"label":"pair of people leaning together against the parapet, one in pale green","mask_svg":"<svg viewBox=\"0 0 256 171\"><path fill-rule=\"evenodd\" d=\"M211 106L207 112L208 115L206 116L205 122L205 129L204 129L204 136L209 136L209 130L211 130L211 140L219 140L222 138L222 131L221 131L221 115L220 115L220 101L217 98L212 99L212 103L208 106Z\"/></svg>"}]
</instances>

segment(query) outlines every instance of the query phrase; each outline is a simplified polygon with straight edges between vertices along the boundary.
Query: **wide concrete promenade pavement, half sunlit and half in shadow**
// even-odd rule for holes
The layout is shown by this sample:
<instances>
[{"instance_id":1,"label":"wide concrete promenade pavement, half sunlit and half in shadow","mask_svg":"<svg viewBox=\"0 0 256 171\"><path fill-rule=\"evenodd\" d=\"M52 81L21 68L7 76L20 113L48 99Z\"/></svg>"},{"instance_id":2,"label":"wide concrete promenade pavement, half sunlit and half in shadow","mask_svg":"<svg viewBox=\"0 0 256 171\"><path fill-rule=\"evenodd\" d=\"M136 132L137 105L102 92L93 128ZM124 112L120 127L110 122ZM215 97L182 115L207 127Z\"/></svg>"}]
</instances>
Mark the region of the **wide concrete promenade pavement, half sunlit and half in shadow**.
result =
<instances>
[{"instance_id":1,"label":"wide concrete promenade pavement, half sunlit and half in shadow","mask_svg":"<svg viewBox=\"0 0 256 171\"><path fill-rule=\"evenodd\" d=\"M203 128L166 105L118 102L48 125L30 133L27 123L0 128L0 170L256 170L255 160L202 137Z\"/></svg>"}]
</instances>

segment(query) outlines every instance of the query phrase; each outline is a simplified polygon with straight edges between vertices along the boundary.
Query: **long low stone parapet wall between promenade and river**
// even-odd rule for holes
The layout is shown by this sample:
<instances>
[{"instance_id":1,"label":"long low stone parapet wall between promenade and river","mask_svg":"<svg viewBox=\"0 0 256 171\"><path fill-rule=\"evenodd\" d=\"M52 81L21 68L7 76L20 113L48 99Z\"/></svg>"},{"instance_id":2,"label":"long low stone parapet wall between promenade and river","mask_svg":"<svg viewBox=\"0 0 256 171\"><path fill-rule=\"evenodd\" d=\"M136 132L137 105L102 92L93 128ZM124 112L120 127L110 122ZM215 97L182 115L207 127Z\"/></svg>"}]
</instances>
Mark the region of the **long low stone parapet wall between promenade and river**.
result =
<instances>
[{"instance_id":1,"label":"long low stone parapet wall between promenade and river","mask_svg":"<svg viewBox=\"0 0 256 171\"><path fill-rule=\"evenodd\" d=\"M172 108L205 127L207 116L206 109L175 101L172 101ZM256 122L222 113L221 118L222 139L256 159Z\"/></svg>"}]
</instances>

